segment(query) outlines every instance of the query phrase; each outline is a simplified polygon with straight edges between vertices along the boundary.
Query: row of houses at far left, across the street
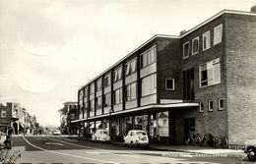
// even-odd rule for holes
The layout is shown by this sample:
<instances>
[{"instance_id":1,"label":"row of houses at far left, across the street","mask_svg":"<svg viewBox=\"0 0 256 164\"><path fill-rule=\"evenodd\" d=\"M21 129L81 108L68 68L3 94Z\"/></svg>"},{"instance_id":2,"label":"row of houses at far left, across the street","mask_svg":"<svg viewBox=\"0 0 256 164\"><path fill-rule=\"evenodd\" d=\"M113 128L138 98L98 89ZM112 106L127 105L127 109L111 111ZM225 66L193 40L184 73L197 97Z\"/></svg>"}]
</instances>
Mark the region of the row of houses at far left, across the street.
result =
<instances>
[{"instance_id":1,"label":"row of houses at far left, across the street","mask_svg":"<svg viewBox=\"0 0 256 164\"><path fill-rule=\"evenodd\" d=\"M6 132L8 127L13 127L14 134L37 134L39 124L36 117L32 116L20 103L7 102L0 104L0 131Z\"/></svg>"}]
</instances>

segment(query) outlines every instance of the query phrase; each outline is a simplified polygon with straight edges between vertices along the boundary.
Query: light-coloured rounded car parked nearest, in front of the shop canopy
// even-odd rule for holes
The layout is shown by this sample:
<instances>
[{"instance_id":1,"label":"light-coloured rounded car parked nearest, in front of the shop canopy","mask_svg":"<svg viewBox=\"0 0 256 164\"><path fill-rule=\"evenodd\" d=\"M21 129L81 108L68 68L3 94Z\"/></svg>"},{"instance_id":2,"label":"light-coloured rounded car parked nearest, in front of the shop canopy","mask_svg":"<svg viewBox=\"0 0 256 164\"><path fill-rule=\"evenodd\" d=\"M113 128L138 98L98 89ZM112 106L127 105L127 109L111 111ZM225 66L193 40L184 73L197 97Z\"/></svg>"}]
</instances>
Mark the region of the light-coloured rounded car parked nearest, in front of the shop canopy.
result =
<instances>
[{"instance_id":1,"label":"light-coloured rounded car parked nearest, in front of the shop canopy","mask_svg":"<svg viewBox=\"0 0 256 164\"><path fill-rule=\"evenodd\" d=\"M142 145L147 146L149 144L149 137L145 131L131 130L127 136L124 137L124 145Z\"/></svg>"}]
</instances>

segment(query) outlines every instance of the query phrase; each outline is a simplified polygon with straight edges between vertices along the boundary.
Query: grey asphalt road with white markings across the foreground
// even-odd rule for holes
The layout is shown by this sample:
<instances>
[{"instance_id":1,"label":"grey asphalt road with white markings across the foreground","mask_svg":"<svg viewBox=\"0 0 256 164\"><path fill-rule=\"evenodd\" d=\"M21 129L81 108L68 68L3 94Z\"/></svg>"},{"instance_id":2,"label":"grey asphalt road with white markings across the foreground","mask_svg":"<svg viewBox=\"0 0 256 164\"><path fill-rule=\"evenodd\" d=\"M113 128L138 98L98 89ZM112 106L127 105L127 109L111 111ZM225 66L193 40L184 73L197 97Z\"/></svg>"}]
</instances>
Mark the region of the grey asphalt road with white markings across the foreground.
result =
<instances>
[{"instance_id":1,"label":"grey asphalt road with white markings across the foreground","mask_svg":"<svg viewBox=\"0 0 256 164\"><path fill-rule=\"evenodd\" d=\"M241 163L241 159L125 147L69 137L14 137L17 163Z\"/></svg>"}]
</instances>

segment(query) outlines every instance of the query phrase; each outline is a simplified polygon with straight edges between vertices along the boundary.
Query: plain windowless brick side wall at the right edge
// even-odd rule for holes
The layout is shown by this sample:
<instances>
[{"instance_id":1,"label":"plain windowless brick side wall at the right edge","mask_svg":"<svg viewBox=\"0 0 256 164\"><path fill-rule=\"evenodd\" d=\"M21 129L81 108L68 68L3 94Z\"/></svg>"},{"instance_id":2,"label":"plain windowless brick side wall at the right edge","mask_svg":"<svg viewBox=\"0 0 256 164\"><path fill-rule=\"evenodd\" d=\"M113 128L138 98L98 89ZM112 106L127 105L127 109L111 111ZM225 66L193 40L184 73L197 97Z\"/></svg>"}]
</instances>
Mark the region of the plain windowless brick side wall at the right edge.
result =
<instances>
[{"instance_id":1,"label":"plain windowless brick side wall at the right edge","mask_svg":"<svg viewBox=\"0 0 256 164\"><path fill-rule=\"evenodd\" d=\"M256 138L256 17L226 15L226 80L230 144Z\"/></svg>"}]
</instances>

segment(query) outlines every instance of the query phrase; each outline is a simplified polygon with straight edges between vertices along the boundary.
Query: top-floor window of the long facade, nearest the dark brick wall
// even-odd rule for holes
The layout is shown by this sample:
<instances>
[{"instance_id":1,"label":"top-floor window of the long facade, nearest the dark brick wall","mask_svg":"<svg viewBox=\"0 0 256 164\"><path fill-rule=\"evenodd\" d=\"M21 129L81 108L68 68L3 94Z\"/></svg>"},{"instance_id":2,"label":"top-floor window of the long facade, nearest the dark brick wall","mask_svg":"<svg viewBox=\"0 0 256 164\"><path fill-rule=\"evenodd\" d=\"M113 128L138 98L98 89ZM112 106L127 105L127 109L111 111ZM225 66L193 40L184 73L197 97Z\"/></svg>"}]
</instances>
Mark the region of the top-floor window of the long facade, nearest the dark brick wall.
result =
<instances>
[{"instance_id":1,"label":"top-floor window of the long facade, nearest the dark brick wall","mask_svg":"<svg viewBox=\"0 0 256 164\"><path fill-rule=\"evenodd\" d=\"M145 68L152 63L155 63L157 60L157 49L156 46L148 49L147 51L143 52L141 55L141 68Z\"/></svg>"}]
</instances>

